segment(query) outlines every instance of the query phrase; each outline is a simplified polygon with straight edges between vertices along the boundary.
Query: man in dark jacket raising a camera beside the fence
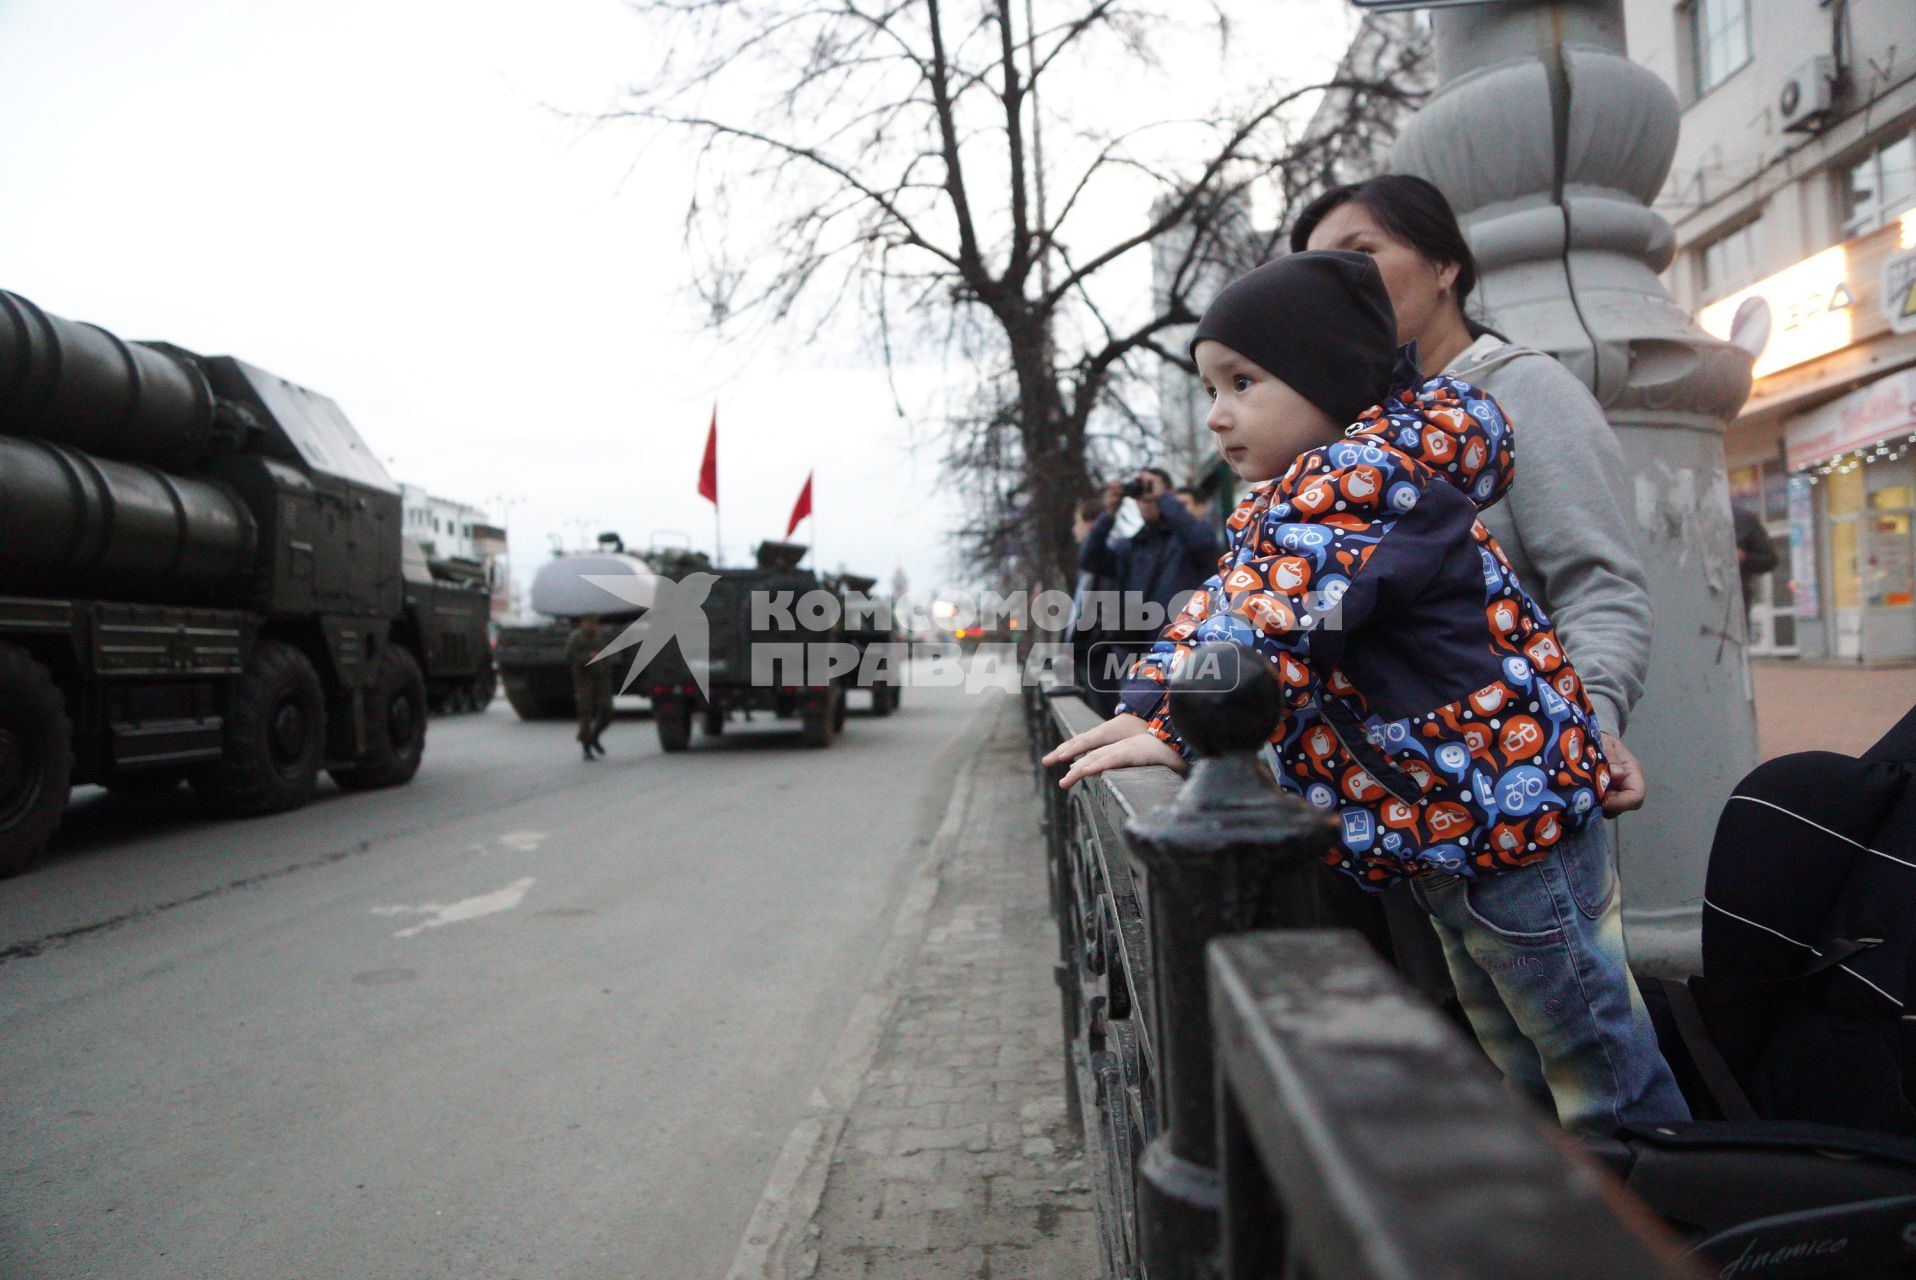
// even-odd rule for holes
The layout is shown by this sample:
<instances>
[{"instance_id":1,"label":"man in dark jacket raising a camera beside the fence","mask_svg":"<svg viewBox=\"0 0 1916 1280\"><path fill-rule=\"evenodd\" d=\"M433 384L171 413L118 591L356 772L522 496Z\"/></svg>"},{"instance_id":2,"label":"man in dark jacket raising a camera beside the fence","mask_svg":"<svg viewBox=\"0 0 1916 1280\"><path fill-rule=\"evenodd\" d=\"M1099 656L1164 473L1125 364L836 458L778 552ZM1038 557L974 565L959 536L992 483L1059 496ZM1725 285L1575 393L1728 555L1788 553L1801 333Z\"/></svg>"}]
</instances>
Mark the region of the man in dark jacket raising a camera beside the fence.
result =
<instances>
[{"instance_id":1,"label":"man in dark jacket raising a camera beside the fence","mask_svg":"<svg viewBox=\"0 0 1916 1280\"><path fill-rule=\"evenodd\" d=\"M1129 538L1111 537L1127 498L1144 523ZM1079 548L1079 569L1111 583L1119 600L1098 602L1086 619L1098 627L1092 688L1115 690L1123 682L1130 659L1152 648L1157 630L1217 571L1222 554L1222 531L1178 500L1163 468L1144 468L1104 487L1104 514Z\"/></svg>"}]
</instances>

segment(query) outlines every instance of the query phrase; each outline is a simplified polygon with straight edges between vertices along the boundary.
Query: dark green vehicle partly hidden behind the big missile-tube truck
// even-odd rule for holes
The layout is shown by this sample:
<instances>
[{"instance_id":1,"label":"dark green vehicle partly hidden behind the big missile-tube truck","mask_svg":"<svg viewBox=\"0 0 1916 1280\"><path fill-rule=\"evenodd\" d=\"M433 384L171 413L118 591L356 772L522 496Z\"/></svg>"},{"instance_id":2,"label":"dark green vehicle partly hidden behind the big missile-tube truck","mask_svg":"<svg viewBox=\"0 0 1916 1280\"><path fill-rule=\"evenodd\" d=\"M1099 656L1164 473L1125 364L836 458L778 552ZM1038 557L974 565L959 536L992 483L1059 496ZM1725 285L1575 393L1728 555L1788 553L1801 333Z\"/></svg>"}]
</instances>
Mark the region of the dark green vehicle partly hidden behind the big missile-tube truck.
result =
<instances>
[{"instance_id":1,"label":"dark green vehicle partly hidden behind the big missile-tube truck","mask_svg":"<svg viewBox=\"0 0 1916 1280\"><path fill-rule=\"evenodd\" d=\"M425 676L435 713L485 711L498 686L492 669L492 590L485 565L439 560L416 538L402 548L404 636Z\"/></svg>"}]
</instances>

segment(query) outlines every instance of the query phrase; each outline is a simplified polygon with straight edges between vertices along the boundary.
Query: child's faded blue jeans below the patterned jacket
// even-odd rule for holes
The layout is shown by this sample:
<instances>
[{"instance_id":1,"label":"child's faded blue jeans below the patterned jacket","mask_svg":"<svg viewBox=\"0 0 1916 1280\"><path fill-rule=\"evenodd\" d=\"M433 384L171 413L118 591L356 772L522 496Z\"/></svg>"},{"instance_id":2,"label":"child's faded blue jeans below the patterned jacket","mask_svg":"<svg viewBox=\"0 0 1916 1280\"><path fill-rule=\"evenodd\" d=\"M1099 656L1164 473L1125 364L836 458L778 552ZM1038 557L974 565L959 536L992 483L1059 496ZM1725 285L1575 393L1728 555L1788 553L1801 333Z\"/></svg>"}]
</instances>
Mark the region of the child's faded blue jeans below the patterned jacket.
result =
<instances>
[{"instance_id":1,"label":"child's faded blue jeans below the patterned jacket","mask_svg":"<svg viewBox=\"0 0 1916 1280\"><path fill-rule=\"evenodd\" d=\"M1542 862L1410 885L1443 941L1477 1042L1571 1132L1690 1119L1623 952L1602 822Z\"/></svg>"}]
</instances>

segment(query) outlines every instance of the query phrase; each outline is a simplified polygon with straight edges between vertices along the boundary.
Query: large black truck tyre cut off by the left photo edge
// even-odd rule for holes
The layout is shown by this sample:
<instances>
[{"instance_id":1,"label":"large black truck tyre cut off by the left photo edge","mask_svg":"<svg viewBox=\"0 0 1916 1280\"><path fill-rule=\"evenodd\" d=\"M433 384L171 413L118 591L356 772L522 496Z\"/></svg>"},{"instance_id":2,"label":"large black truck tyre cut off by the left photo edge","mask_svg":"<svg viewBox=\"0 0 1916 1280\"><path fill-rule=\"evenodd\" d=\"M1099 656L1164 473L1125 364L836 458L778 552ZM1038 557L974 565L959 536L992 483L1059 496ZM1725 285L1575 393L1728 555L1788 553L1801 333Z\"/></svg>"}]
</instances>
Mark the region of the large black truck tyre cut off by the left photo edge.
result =
<instances>
[{"instance_id":1,"label":"large black truck tyre cut off by the left photo edge","mask_svg":"<svg viewBox=\"0 0 1916 1280\"><path fill-rule=\"evenodd\" d=\"M73 778L73 724L54 676L25 650L0 644L0 876L40 857Z\"/></svg>"}]
</instances>

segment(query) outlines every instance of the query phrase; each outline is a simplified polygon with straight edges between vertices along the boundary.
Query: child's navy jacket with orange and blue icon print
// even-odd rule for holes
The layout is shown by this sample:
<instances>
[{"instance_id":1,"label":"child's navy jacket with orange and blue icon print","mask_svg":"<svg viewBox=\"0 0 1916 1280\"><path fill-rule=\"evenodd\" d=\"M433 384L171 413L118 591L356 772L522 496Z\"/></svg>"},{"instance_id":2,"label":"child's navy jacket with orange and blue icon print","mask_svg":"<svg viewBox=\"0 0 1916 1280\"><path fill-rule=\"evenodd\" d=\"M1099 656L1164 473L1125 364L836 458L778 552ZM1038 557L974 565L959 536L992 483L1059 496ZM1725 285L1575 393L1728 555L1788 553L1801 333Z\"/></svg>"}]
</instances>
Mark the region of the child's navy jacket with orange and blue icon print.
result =
<instances>
[{"instance_id":1,"label":"child's navy jacket with orange and blue icon print","mask_svg":"<svg viewBox=\"0 0 1916 1280\"><path fill-rule=\"evenodd\" d=\"M1477 521L1510 485L1510 425L1468 383L1399 377L1238 506L1219 573L1119 699L1184 751L1163 690L1180 655L1234 640L1270 657L1278 780L1335 812L1328 860L1366 887L1537 862L1609 789L1583 682Z\"/></svg>"}]
</instances>

